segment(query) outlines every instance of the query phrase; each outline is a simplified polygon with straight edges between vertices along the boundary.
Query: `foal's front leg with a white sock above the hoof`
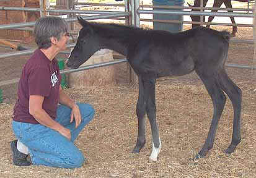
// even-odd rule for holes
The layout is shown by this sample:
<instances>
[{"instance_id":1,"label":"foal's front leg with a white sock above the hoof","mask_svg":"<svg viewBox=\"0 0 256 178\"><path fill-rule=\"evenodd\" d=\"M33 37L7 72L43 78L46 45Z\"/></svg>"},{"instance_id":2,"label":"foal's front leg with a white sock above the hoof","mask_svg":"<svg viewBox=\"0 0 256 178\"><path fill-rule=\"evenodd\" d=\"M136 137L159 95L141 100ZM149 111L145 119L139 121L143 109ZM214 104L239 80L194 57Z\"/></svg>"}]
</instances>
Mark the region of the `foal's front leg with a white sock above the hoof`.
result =
<instances>
[{"instance_id":1,"label":"foal's front leg with a white sock above the hoof","mask_svg":"<svg viewBox=\"0 0 256 178\"><path fill-rule=\"evenodd\" d=\"M149 156L149 162L157 161L157 156L161 150L161 140L156 122L156 76L154 74L145 74L142 78L145 91L146 112L152 133L152 153Z\"/></svg>"}]
</instances>

